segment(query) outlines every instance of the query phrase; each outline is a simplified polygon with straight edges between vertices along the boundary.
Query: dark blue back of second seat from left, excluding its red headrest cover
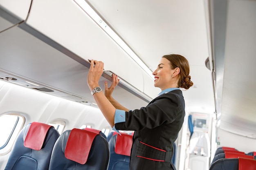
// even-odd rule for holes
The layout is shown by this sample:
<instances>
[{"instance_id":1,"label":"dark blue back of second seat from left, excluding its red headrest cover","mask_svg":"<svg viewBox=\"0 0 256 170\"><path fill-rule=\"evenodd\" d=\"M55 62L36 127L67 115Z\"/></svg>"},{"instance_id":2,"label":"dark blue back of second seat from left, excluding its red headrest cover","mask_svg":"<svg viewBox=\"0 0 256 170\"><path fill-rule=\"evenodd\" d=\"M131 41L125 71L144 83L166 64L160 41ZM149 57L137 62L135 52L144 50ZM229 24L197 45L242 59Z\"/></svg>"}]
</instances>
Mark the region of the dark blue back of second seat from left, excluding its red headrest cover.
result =
<instances>
[{"instance_id":1,"label":"dark blue back of second seat from left, excluding its red headrest cover","mask_svg":"<svg viewBox=\"0 0 256 170\"><path fill-rule=\"evenodd\" d=\"M110 150L108 141L101 135L96 135L92 145L88 148L90 152L86 163L81 164L65 157L65 149L70 137L70 132L71 130L66 130L56 141L49 170L107 170L110 159ZM79 136L77 136L77 140L79 140ZM83 144L88 146L86 141L84 141ZM77 151L74 150L74 152Z\"/></svg>"}]
</instances>

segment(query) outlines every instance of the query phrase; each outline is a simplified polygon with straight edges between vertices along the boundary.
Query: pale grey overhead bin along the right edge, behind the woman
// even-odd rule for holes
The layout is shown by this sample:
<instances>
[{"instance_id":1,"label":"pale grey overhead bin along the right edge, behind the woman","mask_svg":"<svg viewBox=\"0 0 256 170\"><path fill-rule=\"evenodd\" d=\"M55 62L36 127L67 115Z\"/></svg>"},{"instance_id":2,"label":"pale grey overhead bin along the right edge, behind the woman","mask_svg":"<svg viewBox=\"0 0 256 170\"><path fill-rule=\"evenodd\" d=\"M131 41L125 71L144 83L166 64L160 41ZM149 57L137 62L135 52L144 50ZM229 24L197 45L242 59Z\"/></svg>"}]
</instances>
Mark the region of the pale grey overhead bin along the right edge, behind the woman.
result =
<instances>
[{"instance_id":1,"label":"pale grey overhead bin along the right edge, behind the woman","mask_svg":"<svg viewBox=\"0 0 256 170\"><path fill-rule=\"evenodd\" d=\"M225 44L214 46L214 52L225 55L224 64L215 63L216 67L223 64L223 77L216 75L216 81L223 79L222 93L216 96L222 100L220 128L228 132L252 137L256 129L256 90L255 90L255 53L256 53L256 1L229 0L213 1L227 3L222 13L216 10L214 18L220 21L227 17L225 35L214 37L214 41ZM222 6L218 6L222 8ZM219 22L215 23L220 24ZM219 26L219 25L218 25ZM223 30L222 30L223 31ZM213 35L220 30L213 30ZM224 38L223 38L224 37ZM225 51L222 51L222 50ZM218 65L219 64L219 65Z\"/></svg>"}]
</instances>

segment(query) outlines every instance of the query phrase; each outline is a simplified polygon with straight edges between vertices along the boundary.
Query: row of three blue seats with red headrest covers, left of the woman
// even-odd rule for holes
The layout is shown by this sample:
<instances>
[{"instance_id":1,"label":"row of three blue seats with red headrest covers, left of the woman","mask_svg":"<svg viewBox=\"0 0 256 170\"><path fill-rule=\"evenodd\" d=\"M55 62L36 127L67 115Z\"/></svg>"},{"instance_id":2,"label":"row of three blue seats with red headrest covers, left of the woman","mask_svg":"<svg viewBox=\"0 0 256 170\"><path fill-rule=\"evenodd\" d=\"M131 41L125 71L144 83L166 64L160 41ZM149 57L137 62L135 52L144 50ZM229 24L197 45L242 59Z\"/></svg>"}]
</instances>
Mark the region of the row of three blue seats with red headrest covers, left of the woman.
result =
<instances>
[{"instance_id":1,"label":"row of three blue seats with red headrest covers, left of the woman","mask_svg":"<svg viewBox=\"0 0 256 170\"><path fill-rule=\"evenodd\" d=\"M132 135L66 130L33 122L19 133L4 170L129 170ZM125 147L124 147L125 145Z\"/></svg>"}]
</instances>

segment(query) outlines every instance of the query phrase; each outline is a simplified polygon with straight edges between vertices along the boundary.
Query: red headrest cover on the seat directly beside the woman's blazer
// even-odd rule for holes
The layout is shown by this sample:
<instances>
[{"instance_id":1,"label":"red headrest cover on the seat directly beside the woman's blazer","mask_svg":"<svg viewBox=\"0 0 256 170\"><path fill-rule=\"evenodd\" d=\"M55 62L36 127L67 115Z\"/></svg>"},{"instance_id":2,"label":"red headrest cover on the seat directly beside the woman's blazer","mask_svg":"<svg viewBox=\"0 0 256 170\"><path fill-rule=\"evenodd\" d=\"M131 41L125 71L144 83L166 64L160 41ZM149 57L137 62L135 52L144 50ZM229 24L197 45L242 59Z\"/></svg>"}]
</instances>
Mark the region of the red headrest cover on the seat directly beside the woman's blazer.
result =
<instances>
[{"instance_id":1,"label":"red headrest cover on the seat directly beside the woman's blazer","mask_svg":"<svg viewBox=\"0 0 256 170\"><path fill-rule=\"evenodd\" d=\"M132 148L132 135L117 135L115 152L119 155L130 156Z\"/></svg>"}]
</instances>

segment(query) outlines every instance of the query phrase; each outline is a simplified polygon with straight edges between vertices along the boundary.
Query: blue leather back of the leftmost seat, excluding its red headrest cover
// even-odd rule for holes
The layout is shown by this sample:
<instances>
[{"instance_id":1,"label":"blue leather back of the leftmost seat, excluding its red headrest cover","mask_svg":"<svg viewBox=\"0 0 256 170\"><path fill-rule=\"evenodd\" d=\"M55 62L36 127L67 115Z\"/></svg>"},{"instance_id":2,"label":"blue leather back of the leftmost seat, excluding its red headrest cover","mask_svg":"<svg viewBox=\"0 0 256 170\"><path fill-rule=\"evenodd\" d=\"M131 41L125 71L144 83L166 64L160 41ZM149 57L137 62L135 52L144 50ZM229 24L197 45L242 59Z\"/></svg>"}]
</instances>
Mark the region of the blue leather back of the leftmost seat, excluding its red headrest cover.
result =
<instances>
[{"instance_id":1,"label":"blue leather back of the leftmost seat, excluding its red headrest cover","mask_svg":"<svg viewBox=\"0 0 256 170\"><path fill-rule=\"evenodd\" d=\"M24 146L24 141L30 126L31 124L28 124L20 131L4 170L48 170L52 149L60 135L51 126L45 136L42 149L27 148Z\"/></svg>"}]
</instances>

